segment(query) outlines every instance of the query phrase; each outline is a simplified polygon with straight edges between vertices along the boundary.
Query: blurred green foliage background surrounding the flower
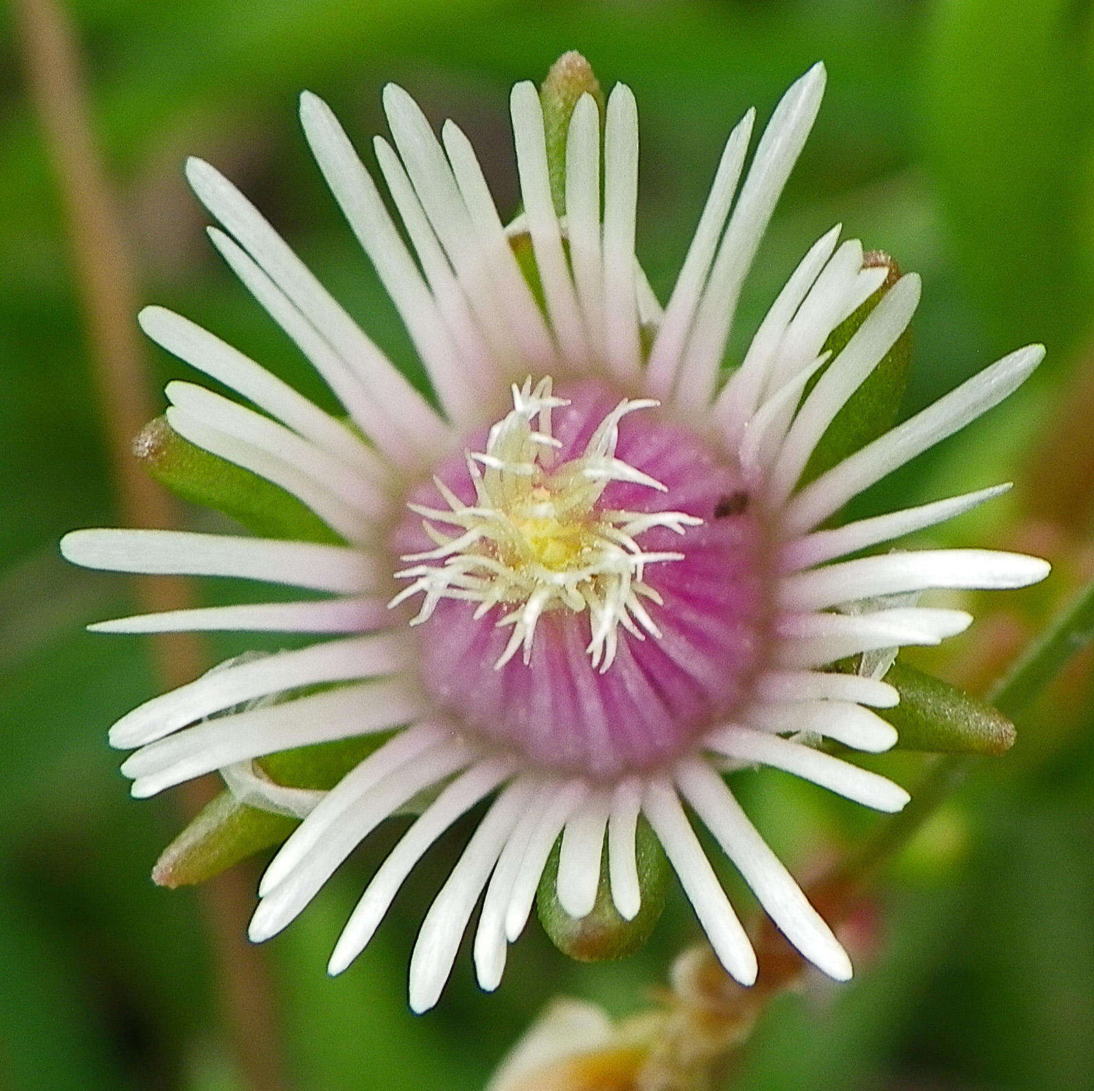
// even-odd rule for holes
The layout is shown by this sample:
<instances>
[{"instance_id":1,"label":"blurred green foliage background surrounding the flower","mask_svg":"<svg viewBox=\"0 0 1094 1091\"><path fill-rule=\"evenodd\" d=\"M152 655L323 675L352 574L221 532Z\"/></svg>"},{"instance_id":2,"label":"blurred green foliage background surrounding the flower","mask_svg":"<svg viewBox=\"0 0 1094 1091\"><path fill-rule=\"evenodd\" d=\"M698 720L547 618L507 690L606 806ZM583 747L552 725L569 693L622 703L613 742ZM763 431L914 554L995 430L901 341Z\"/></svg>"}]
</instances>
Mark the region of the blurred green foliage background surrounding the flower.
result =
<instances>
[{"instance_id":1,"label":"blurred green foliage background surrounding the flower","mask_svg":"<svg viewBox=\"0 0 1094 1091\"><path fill-rule=\"evenodd\" d=\"M96 135L135 246L141 295L175 307L324 397L218 264L182 177L201 154L233 177L400 362L395 313L352 244L299 132L296 93L327 97L368 150L382 85L454 117L511 211L508 89L560 53L639 101L639 254L662 299L729 129L766 117L816 59L819 121L743 301L740 345L804 248L837 220L924 278L906 411L997 356L1048 345L1038 381L924 456L871 503L1022 477L1086 368L1094 285L1094 12L1089 0L74 0ZM27 101L12 11L0 9L0 1088L243 1088L199 900L149 871L178 801L133 802L106 728L156 687L147 648L82 627L132 608L126 581L68 569L67 530L117 522L71 254ZM156 385L184 369L149 351ZM190 376L186 376L190 378ZM329 402L327 403L329 404ZM1094 455L1091 456L1094 459ZM1069 483L1064 481L1067 486ZM1078 480L1074 483L1078 487ZM957 527L1005 537L1000 507ZM1076 504L1089 498L1075 498ZM216 525L197 512L190 525ZM945 532L931 541L947 541ZM1049 548L1049 553L1051 549ZM1057 587L1056 592L1060 591ZM237 589L202 588L208 601ZM975 642L975 641L974 641ZM968 646L966 646L968 647ZM223 655L242 650L225 641ZM959 676L951 662L935 669ZM750 1089L1094 1088L1094 729L1086 688L1021 727L891 869L860 921L859 976L813 983L761 1021ZM911 784L918 761L885 767ZM799 870L872 819L769 775L741 785ZM653 942L582 966L533 922L480 995L461 955L440 1007L406 1008L410 945L457 829L416 873L368 952L324 966L383 842L365 846L267 947L289 1087L475 1089L544 1002L622 1014L696 936L677 895ZM257 871L248 871L253 884ZM240 940L242 943L242 940Z\"/></svg>"}]
</instances>

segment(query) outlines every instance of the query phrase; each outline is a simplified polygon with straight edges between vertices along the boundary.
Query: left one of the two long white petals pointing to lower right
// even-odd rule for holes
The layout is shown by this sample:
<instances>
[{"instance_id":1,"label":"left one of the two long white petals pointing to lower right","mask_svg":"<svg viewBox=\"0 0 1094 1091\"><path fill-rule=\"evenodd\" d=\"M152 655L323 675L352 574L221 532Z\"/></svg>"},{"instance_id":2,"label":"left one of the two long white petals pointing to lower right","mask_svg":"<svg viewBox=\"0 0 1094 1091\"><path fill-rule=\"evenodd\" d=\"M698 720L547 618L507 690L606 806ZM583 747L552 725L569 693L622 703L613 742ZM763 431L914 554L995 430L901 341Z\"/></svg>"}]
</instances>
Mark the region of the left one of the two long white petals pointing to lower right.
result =
<instances>
[{"instance_id":1,"label":"left one of the two long white petals pointing to lower right","mask_svg":"<svg viewBox=\"0 0 1094 1091\"><path fill-rule=\"evenodd\" d=\"M676 792L663 780L651 781L645 787L642 810L661 839L714 954L735 980L752 985L758 968L756 954Z\"/></svg>"}]
</instances>

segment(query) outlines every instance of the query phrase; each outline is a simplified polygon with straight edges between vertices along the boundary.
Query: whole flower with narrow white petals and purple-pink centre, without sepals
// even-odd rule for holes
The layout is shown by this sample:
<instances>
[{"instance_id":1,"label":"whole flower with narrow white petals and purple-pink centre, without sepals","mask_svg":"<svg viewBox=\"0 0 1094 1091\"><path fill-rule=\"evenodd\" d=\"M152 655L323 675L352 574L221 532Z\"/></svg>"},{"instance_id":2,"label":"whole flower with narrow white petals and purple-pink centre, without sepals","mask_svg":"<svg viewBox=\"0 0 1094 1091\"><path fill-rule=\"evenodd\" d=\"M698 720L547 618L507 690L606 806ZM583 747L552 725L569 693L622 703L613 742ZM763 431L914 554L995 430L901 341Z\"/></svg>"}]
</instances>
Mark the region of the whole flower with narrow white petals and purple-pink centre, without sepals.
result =
<instances>
[{"instance_id":1,"label":"whole flower with narrow white petals and purple-pink centre, without sepals","mask_svg":"<svg viewBox=\"0 0 1094 1091\"><path fill-rule=\"evenodd\" d=\"M753 949L686 804L802 954L834 978L851 975L723 774L772 766L881 811L905 804L903 788L811 745L823 738L880 752L896 741L871 710L896 704L896 692L824 668L936 643L971 620L886 596L1022 587L1048 566L963 549L839 559L966 511L998 488L825 523L999 403L1043 349L1000 360L799 487L817 442L919 298L919 279L903 277L829 359L831 332L886 276L864 266L859 242L837 245L836 228L808 251L721 381L741 283L824 81L818 65L790 89L740 191L753 114L733 130L663 313L635 257L638 117L626 86L606 108L603 216L601 114L589 94L573 111L563 219L552 204L539 97L531 83L513 89L525 213L508 231L459 129L446 123L442 143L409 95L388 86L395 148L377 138L376 155L412 253L334 115L304 94L309 142L439 408L228 181L189 162L195 191L224 229L210 231L214 245L351 423L212 334L149 307L140 321L150 337L264 410L172 383L168 421L296 496L346 544L90 530L68 535L62 549L93 568L236 577L325 595L93 626L328 637L229 664L125 716L110 741L139 747L123 766L135 796L241 763L249 769L290 747L387 735L329 792L287 804L271 786L271 806L296 805L306 817L265 872L253 939L284 928L356 845L424 798L338 940L329 970L345 970L422 854L490 798L422 925L410 963L416 1011L437 1002L484 891L475 964L485 988L498 985L559 836L562 907L574 917L591 910L606 842L612 897L633 918L640 815L719 959L749 984ZM521 232L531 239L542 307L514 256L510 236ZM282 699L260 700L272 694ZM257 704L237 710L246 703ZM247 784L261 792L260 777Z\"/></svg>"}]
</instances>

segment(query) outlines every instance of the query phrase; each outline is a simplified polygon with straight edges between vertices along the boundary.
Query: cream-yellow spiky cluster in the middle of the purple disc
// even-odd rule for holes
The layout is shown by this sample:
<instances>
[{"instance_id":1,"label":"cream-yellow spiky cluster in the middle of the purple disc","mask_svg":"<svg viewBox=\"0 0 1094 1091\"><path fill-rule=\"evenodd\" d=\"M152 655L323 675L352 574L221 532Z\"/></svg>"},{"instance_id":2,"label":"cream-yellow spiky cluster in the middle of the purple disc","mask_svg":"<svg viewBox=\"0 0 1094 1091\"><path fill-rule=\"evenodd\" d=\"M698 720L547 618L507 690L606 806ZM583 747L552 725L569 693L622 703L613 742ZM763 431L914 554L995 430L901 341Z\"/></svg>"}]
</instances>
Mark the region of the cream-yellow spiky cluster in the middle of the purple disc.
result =
<instances>
[{"instance_id":1,"label":"cream-yellow spiky cluster in the middle of the purple disc","mask_svg":"<svg viewBox=\"0 0 1094 1091\"><path fill-rule=\"evenodd\" d=\"M613 481L666 491L661 481L616 456L619 421L657 402L624 398L593 431L582 453L558 460L551 411L569 405L551 393L551 379L512 387L513 408L490 429L486 450L466 453L474 501L465 503L440 478L446 508L409 503L422 517L432 549L401 557L395 573L410 581L388 604L422 595L411 625L420 625L442 599L477 603L474 617L497 607L496 625L511 628L493 664L500 670L517 652L532 654L539 618L555 611L589 614L585 651L601 673L615 661L619 628L638 640L661 631L647 604L661 606L643 579L649 565L684 554L650 552L641 537L653 527L685 534L702 523L679 511L626 511L603 503Z\"/></svg>"}]
</instances>

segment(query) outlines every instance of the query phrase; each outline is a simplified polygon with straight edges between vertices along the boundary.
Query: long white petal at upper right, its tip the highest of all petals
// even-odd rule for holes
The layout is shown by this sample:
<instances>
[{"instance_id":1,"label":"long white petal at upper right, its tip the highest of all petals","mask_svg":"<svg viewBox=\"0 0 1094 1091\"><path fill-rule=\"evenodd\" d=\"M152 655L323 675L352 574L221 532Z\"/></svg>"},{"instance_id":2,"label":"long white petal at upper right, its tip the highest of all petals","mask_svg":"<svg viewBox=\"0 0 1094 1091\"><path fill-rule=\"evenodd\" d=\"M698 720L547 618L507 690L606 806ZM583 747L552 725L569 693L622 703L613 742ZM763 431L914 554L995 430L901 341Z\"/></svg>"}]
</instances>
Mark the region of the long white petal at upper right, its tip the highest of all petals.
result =
<instances>
[{"instance_id":1,"label":"long white petal at upper right, its tip the highest of all petals","mask_svg":"<svg viewBox=\"0 0 1094 1091\"><path fill-rule=\"evenodd\" d=\"M813 127L824 84L824 66L815 65L783 96L756 148L684 353L676 387L682 409L705 408L710 402L741 285Z\"/></svg>"}]
</instances>

